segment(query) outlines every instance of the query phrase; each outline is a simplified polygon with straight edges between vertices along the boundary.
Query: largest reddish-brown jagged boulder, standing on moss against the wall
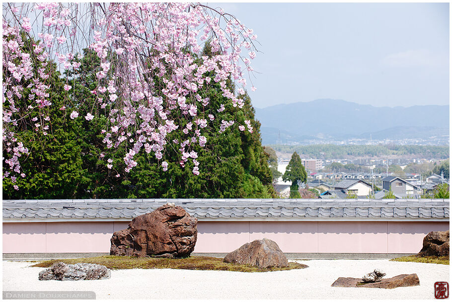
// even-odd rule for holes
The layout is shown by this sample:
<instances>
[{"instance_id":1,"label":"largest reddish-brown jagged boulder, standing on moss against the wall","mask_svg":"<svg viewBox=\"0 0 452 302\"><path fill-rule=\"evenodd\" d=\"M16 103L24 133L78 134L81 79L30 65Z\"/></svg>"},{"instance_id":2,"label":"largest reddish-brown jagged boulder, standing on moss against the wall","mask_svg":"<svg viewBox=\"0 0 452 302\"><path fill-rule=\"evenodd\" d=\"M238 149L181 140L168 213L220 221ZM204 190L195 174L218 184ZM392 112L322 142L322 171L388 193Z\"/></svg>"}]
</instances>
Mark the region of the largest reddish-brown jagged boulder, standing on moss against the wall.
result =
<instances>
[{"instance_id":1,"label":"largest reddish-brown jagged boulder, standing on moss against the wall","mask_svg":"<svg viewBox=\"0 0 452 302\"><path fill-rule=\"evenodd\" d=\"M166 204L132 220L111 237L110 255L187 257L195 248L198 219L180 206Z\"/></svg>"}]
</instances>

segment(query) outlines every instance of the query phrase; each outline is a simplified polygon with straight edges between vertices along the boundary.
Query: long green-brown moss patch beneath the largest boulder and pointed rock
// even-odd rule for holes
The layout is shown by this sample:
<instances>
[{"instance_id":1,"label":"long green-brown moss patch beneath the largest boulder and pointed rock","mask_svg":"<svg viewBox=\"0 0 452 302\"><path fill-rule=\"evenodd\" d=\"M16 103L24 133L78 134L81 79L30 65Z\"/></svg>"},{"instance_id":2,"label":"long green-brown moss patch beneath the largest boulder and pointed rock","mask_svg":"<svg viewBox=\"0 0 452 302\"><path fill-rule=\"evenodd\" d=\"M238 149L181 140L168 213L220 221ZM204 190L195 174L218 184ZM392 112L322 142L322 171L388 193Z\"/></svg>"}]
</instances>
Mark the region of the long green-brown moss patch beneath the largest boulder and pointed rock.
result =
<instances>
[{"instance_id":1,"label":"long green-brown moss patch beneath the largest boulder and pointed rock","mask_svg":"<svg viewBox=\"0 0 452 302\"><path fill-rule=\"evenodd\" d=\"M67 264L75 263L94 263L105 265L112 270L124 269L154 269L154 268L172 268L179 270L214 270L214 271L233 271L233 272L273 272L287 271L293 269L302 269L307 265L289 262L288 267L271 267L260 269L251 265L235 264L223 262L223 258L192 256L183 259L167 259L167 258L137 258L127 256L99 256L91 258L77 259L55 259L40 262L32 265L33 267L50 267L55 262L64 262Z\"/></svg>"}]
</instances>

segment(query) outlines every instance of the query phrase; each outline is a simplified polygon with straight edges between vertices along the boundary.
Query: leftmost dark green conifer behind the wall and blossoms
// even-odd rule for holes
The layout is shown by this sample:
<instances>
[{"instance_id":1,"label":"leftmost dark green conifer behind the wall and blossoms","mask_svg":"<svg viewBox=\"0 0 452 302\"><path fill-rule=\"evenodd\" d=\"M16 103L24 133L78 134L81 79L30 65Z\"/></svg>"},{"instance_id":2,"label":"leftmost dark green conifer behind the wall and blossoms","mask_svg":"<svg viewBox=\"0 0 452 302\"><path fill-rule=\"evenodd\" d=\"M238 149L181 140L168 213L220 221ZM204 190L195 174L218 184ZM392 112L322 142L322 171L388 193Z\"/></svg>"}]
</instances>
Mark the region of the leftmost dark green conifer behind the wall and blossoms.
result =
<instances>
[{"instance_id":1,"label":"leftmost dark green conifer behind the wall and blossoms","mask_svg":"<svg viewBox=\"0 0 452 302\"><path fill-rule=\"evenodd\" d=\"M31 53L27 46L33 43L23 38L24 51ZM35 56L31 56L35 60ZM34 66L34 73L38 73L41 64ZM64 79L57 71L56 65L52 62L47 64L46 74L50 75L47 83L50 86L49 99L52 100L52 106L35 110L31 115L23 119L23 123L33 123L36 127L44 122L47 123L50 117L49 129L45 130L46 135L42 131L34 131L33 129L25 130L22 123L18 124L15 129L16 138L22 142L30 142L29 154L22 163L22 169L26 174L25 178L18 177L15 183L11 179L3 178L3 198L4 199L48 199L48 198L75 198L78 187L89 182L86 177L86 170L83 168L83 159L81 157L80 137L77 135L79 122L67 122L70 108L59 110L65 103L65 98L70 97L70 93L63 89ZM5 71L4 71L5 72ZM23 84L24 86L27 83ZM26 88L22 92L28 103L23 105L35 105L34 101L28 96L31 95L30 89ZM3 166L3 173L7 171L7 167ZM18 190L13 188L18 186Z\"/></svg>"}]
</instances>

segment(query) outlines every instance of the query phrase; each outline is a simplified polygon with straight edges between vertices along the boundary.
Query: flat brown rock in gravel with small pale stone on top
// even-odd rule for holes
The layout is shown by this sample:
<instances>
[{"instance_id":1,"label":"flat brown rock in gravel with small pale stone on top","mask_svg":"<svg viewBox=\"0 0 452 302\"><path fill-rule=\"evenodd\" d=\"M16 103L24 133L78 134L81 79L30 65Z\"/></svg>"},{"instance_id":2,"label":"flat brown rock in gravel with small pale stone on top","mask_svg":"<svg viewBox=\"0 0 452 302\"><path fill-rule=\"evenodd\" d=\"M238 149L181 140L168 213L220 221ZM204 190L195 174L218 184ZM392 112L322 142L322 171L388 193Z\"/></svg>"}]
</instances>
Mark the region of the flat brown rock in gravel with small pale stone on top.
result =
<instances>
[{"instance_id":1,"label":"flat brown rock in gravel with small pale stone on top","mask_svg":"<svg viewBox=\"0 0 452 302\"><path fill-rule=\"evenodd\" d=\"M366 287L366 288L379 288L379 289L395 289L396 287L408 287L417 286L419 284L419 278L416 274L403 274L392 278L381 279L377 282L364 283L360 278L345 278L339 277L332 287Z\"/></svg>"}]
</instances>

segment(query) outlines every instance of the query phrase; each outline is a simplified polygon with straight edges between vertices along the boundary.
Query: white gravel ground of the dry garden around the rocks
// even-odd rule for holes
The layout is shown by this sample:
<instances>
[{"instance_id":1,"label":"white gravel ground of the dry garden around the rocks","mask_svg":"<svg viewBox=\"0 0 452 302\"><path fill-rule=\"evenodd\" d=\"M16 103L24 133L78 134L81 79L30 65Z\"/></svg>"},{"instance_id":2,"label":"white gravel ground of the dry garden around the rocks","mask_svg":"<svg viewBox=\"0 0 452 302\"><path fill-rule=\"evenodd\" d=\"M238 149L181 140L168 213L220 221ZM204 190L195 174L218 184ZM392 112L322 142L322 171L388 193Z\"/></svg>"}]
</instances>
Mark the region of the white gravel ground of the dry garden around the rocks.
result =
<instances>
[{"instance_id":1,"label":"white gravel ground of the dry garden around the rocks","mask_svg":"<svg viewBox=\"0 0 452 302\"><path fill-rule=\"evenodd\" d=\"M93 291L97 299L435 299L434 283L449 282L449 265L389 260L298 260L301 270L241 273L174 269L113 270L111 279L39 281L30 262L3 261L3 291ZM338 277L361 278L375 268L385 278L419 276L420 286L337 288Z\"/></svg>"}]
</instances>

